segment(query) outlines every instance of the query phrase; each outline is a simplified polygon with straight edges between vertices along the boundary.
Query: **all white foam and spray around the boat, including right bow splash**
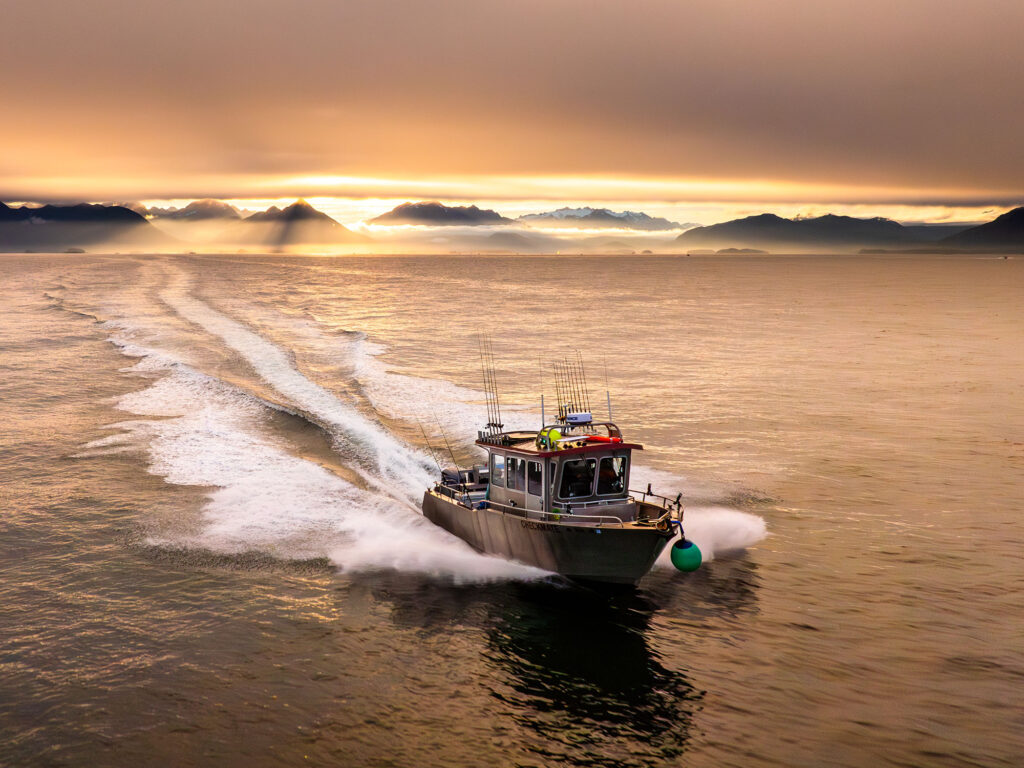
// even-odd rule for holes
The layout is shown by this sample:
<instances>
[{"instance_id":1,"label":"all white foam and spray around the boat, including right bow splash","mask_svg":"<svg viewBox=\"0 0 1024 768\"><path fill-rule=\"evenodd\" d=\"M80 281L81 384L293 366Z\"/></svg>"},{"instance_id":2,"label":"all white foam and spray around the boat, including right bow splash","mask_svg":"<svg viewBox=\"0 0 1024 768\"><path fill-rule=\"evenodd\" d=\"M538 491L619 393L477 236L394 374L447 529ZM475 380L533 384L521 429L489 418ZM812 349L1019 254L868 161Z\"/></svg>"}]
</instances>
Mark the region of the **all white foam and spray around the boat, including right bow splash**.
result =
<instances>
[{"instance_id":1,"label":"all white foam and spray around the boat, including right bow splash","mask_svg":"<svg viewBox=\"0 0 1024 768\"><path fill-rule=\"evenodd\" d=\"M433 480L434 467L423 450L402 440L366 408L309 378L291 350L254 330L259 325L243 323L199 298L185 271L162 265L161 272L155 295L162 310L151 298L144 307L118 307L104 323L112 343L133 360L124 370L146 381L116 403L135 418L111 425L116 433L86 444L80 454L140 452L151 473L172 484L206 489L198 515L155 520L148 543L220 554L326 557L341 570L397 569L456 582L550 575L481 555L427 521L418 502ZM154 332L153 318L167 308L174 316L163 318L161 332ZM110 305L102 309L110 316ZM162 343L173 324L193 334L201 329L202 338ZM337 335L333 339L338 342ZM440 417L445 423L481 421L479 392L389 371L377 359L381 348L361 334L348 334L343 341L331 348L347 355L347 369L371 411L415 422L424 415L417 412L424 402L431 409L447 402ZM217 375L219 371L204 371L201 354L182 351L211 343L242 360L272 399ZM350 472L339 473L300 455L289 436L273 427L274 413L281 411L322 428ZM470 442L470 434L452 434L462 447ZM659 487L667 487L667 479L658 477ZM688 537L708 559L765 535L761 518L725 508L690 509L686 522Z\"/></svg>"}]
</instances>

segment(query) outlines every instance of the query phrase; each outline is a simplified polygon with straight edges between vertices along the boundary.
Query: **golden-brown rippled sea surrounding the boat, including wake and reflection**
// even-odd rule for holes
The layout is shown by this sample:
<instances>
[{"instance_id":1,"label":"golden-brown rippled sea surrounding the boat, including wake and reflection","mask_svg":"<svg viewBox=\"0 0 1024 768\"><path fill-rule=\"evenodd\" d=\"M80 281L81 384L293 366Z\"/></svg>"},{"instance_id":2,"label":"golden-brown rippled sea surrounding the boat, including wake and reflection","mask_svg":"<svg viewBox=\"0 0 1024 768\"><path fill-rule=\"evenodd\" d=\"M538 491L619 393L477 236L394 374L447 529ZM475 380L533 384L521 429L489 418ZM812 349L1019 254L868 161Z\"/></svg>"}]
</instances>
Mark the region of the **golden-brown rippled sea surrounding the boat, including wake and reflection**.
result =
<instances>
[{"instance_id":1,"label":"golden-brown rippled sea surrounding the boat, including wake and reflection","mask_svg":"<svg viewBox=\"0 0 1024 768\"><path fill-rule=\"evenodd\" d=\"M0 268L4 766L1024 760L1022 260ZM579 349L710 562L608 594L426 522L480 333L510 426Z\"/></svg>"}]
</instances>

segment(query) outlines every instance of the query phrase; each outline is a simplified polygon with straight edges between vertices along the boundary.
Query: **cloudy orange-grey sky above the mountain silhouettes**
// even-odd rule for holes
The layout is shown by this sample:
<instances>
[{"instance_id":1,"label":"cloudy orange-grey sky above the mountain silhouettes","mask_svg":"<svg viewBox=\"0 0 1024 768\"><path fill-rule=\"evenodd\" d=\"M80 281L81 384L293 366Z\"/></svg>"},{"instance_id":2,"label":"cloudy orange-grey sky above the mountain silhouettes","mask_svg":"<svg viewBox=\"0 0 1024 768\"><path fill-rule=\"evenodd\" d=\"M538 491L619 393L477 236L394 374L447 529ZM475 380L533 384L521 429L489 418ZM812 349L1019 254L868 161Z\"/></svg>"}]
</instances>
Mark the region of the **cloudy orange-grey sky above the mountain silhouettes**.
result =
<instances>
[{"instance_id":1,"label":"cloudy orange-grey sky above the mountain silhouettes","mask_svg":"<svg viewBox=\"0 0 1024 768\"><path fill-rule=\"evenodd\" d=\"M982 220L1020 0L5 0L0 199Z\"/></svg>"}]
</instances>

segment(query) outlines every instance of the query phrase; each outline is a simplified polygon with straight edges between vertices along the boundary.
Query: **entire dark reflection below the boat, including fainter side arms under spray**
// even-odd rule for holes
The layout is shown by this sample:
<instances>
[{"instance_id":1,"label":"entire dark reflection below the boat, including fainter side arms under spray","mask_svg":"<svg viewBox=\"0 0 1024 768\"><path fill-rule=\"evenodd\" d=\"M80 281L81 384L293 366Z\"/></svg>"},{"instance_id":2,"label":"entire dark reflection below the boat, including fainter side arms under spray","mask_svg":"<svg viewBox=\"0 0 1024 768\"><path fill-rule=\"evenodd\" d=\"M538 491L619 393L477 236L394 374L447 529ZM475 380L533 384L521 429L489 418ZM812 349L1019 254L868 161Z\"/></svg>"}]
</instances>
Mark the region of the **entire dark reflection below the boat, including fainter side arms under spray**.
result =
<instances>
[{"instance_id":1,"label":"entire dark reflection below the boat, including fainter side arms under spray","mask_svg":"<svg viewBox=\"0 0 1024 768\"><path fill-rule=\"evenodd\" d=\"M651 646L651 622L670 610L699 624L750 610L751 563L715 563L699 578L670 571L642 591L562 583L439 588L409 575L354 577L349 598L390 605L391 621L424 639L454 628L482 634L478 680L496 708L480 713L514 731L517 764L664 764L685 753L703 691Z\"/></svg>"}]
</instances>

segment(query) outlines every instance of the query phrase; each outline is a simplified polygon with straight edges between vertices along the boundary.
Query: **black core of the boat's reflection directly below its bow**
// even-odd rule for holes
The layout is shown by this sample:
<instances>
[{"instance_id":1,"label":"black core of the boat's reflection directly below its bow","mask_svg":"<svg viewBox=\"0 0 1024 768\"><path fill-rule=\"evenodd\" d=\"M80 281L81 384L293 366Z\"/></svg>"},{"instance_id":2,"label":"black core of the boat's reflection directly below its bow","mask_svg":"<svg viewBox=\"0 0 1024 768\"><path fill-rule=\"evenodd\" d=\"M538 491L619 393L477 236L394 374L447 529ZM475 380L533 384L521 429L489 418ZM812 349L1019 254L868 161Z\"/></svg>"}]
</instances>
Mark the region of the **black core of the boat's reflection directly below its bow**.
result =
<instances>
[{"instance_id":1,"label":"black core of the boat's reflection directly below its bow","mask_svg":"<svg viewBox=\"0 0 1024 768\"><path fill-rule=\"evenodd\" d=\"M636 594L517 590L487 631L493 694L537 735L539 757L645 765L681 754L701 693L647 640L654 606ZM527 743L530 743L527 741Z\"/></svg>"}]
</instances>

